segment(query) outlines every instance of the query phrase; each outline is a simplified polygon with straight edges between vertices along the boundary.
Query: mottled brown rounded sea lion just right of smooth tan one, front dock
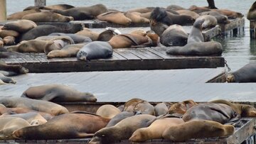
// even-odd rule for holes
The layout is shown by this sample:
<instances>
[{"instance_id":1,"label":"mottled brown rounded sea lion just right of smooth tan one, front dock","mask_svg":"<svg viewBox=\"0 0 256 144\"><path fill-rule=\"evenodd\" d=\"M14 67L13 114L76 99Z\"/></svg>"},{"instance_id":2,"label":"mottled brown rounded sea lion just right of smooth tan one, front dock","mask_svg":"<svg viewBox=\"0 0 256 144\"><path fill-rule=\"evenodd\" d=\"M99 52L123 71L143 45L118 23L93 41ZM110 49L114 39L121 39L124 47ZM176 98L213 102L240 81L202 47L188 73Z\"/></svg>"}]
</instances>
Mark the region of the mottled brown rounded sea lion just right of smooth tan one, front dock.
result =
<instances>
[{"instance_id":1,"label":"mottled brown rounded sea lion just right of smooth tan one, front dock","mask_svg":"<svg viewBox=\"0 0 256 144\"><path fill-rule=\"evenodd\" d=\"M124 104L124 111L141 111L142 114L155 115L154 106L143 99L130 99Z\"/></svg>"}]
</instances>

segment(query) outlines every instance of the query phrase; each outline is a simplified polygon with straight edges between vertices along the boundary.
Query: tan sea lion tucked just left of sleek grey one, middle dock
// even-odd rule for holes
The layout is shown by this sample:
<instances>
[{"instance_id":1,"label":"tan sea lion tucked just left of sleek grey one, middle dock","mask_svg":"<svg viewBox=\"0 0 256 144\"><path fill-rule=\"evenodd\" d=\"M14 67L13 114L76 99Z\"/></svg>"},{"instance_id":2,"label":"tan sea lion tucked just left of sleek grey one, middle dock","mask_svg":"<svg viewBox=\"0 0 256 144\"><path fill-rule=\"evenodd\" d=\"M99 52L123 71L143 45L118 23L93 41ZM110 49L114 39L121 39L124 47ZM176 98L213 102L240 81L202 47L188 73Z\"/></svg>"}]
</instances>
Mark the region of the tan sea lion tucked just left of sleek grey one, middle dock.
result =
<instances>
[{"instance_id":1,"label":"tan sea lion tucked just left of sleek grey one, middle dock","mask_svg":"<svg viewBox=\"0 0 256 144\"><path fill-rule=\"evenodd\" d=\"M81 43L81 44L73 44L73 45L66 45L61 50L52 50L48 52L46 55L47 58L53 58L53 57L76 57L78 55L78 51L85 46L87 43Z\"/></svg>"}]
</instances>

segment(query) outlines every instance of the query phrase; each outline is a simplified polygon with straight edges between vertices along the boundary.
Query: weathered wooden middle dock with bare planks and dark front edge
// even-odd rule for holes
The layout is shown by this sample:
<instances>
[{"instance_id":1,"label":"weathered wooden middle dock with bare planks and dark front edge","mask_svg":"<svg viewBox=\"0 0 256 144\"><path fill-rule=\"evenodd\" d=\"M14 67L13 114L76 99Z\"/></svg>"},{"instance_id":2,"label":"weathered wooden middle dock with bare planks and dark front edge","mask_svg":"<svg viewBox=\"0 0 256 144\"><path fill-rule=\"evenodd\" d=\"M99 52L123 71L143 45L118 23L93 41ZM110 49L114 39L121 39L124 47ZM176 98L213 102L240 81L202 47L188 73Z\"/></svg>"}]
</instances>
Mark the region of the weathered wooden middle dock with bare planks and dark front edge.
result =
<instances>
[{"instance_id":1,"label":"weathered wooden middle dock with bare planks and dark front edge","mask_svg":"<svg viewBox=\"0 0 256 144\"><path fill-rule=\"evenodd\" d=\"M220 56L167 55L165 47L114 49L107 59L80 61L76 57L47 59L44 53L24 53L4 58L4 62L26 67L30 72L89 72L114 70L170 70L224 67Z\"/></svg>"}]
</instances>

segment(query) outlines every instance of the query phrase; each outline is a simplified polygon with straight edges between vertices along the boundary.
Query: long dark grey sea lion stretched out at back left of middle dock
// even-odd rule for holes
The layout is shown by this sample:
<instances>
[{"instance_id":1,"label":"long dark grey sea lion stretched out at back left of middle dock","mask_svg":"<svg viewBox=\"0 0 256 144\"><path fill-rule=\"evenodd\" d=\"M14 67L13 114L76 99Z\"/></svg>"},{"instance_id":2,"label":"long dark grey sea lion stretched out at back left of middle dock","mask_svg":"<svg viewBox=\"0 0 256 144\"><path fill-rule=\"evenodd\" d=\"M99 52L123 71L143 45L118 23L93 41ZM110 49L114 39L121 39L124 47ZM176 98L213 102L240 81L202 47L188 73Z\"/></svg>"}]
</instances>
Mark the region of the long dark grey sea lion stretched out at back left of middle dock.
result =
<instances>
[{"instance_id":1,"label":"long dark grey sea lion stretched out at back left of middle dock","mask_svg":"<svg viewBox=\"0 0 256 144\"><path fill-rule=\"evenodd\" d=\"M78 31L80 31L80 27L59 28L58 26L52 25L40 25L23 33L23 35L20 36L19 41L33 40L40 36L50 35L50 33L77 33Z\"/></svg>"}]
</instances>

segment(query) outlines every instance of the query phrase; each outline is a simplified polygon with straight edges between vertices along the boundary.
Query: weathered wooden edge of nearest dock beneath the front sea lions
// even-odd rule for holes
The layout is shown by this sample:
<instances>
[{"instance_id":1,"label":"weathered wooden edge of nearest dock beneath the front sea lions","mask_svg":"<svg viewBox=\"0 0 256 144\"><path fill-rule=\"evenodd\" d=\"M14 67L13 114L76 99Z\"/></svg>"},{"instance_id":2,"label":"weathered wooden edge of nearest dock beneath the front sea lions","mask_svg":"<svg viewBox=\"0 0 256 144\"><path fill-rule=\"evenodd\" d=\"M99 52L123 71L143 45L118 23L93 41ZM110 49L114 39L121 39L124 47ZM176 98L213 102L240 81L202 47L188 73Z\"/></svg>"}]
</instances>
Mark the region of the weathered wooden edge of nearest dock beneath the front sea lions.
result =
<instances>
[{"instance_id":1,"label":"weathered wooden edge of nearest dock beneath the front sea lions","mask_svg":"<svg viewBox=\"0 0 256 144\"><path fill-rule=\"evenodd\" d=\"M147 140L143 142L143 144L167 144L167 143L174 143L174 144L234 144L234 143L242 143L250 136L255 135L255 118L241 118L233 125L235 126L235 133L233 135L227 137L217 137L217 138L200 138L200 139L191 139L187 140L186 142L172 142L170 140L164 139L154 139L154 140ZM241 126L239 126L241 125ZM63 139L63 140L0 140L0 143L89 143L90 138L82 138L82 139ZM115 142L114 144L129 144L129 140L120 140ZM133 143L133 144L140 144L140 143Z\"/></svg>"}]
</instances>

